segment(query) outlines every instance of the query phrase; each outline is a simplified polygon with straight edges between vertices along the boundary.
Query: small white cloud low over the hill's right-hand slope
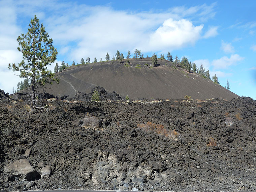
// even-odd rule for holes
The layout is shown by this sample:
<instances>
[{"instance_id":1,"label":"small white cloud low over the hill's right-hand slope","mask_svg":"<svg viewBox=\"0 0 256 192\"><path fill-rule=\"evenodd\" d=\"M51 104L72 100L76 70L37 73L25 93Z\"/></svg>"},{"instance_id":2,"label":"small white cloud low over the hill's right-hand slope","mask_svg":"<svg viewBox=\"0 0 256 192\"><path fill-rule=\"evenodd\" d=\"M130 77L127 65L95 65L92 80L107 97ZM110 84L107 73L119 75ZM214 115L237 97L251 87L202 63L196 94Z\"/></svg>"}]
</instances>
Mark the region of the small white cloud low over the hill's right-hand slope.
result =
<instances>
[{"instance_id":1,"label":"small white cloud low over the hill's right-hand slope","mask_svg":"<svg viewBox=\"0 0 256 192\"><path fill-rule=\"evenodd\" d=\"M230 58L224 56L220 59L213 60L212 65L215 69L226 69L230 65L235 65L237 62L242 61L244 58L240 57L238 54L232 54Z\"/></svg>"}]
</instances>

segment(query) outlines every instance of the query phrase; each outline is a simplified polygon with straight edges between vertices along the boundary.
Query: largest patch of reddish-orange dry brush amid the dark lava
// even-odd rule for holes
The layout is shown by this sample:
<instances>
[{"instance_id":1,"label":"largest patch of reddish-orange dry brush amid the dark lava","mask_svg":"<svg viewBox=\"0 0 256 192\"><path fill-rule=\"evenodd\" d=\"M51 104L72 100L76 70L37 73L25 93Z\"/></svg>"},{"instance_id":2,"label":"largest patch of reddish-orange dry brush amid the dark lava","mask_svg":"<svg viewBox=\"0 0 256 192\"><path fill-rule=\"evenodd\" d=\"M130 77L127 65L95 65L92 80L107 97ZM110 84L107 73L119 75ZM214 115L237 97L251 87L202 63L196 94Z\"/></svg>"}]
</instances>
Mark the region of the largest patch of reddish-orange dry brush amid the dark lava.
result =
<instances>
[{"instance_id":1,"label":"largest patch of reddish-orange dry brush amid the dark lava","mask_svg":"<svg viewBox=\"0 0 256 192\"><path fill-rule=\"evenodd\" d=\"M175 129L167 130L162 124L155 124L150 121L146 124L138 124L137 127L143 131L153 131L158 135L164 135L165 137L171 138L173 140L178 140L178 136L180 135L177 131L175 131Z\"/></svg>"}]
</instances>

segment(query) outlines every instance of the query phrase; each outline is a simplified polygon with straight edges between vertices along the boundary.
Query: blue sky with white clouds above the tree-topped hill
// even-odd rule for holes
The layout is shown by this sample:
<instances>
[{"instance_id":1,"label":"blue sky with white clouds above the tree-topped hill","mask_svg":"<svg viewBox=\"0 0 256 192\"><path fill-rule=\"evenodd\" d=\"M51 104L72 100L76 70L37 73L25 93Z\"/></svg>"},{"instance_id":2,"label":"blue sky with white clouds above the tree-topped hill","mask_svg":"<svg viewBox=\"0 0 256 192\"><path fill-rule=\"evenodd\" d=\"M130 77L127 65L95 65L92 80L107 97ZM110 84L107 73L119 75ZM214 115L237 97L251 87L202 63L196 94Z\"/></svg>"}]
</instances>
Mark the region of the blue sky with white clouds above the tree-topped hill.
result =
<instances>
[{"instance_id":1,"label":"blue sky with white clouds above the tree-topped hill","mask_svg":"<svg viewBox=\"0 0 256 192\"><path fill-rule=\"evenodd\" d=\"M22 54L17 38L37 15L58 50L55 63L126 57L135 49L187 57L217 75L220 85L256 99L256 1L0 0L0 89L17 89L19 72L8 69ZM132 55L133 56L133 55Z\"/></svg>"}]
</instances>

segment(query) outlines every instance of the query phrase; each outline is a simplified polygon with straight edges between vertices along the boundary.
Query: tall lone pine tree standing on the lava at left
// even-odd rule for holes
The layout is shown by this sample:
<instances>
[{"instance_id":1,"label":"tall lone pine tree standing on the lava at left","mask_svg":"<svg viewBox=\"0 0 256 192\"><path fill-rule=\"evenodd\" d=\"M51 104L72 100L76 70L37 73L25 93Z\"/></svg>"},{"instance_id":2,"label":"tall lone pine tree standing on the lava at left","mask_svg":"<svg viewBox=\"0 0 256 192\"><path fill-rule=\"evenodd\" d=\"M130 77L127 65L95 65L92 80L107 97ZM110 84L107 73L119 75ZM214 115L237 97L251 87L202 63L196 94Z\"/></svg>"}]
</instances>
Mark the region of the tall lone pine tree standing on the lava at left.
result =
<instances>
[{"instance_id":1,"label":"tall lone pine tree standing on the lava at left","mask_svg":"<svg viewBox=\"0 0 256 192\"><path fill-rule=\"evenodd\" d=\"M56 60L57 49L52 45L53 40L49 38L43 24L40 25L36 15L31 19L29 29L26 34L21 34L17 39L19 46L18 51L23 54L23 59L18 66L13 63L8 68L13 71L20 71L20 77L31 80L32 106L35 106L36 92L38 88L43 88L46 83L57 81L54 74L46 68Z\"/></svg>"}]
</instances>

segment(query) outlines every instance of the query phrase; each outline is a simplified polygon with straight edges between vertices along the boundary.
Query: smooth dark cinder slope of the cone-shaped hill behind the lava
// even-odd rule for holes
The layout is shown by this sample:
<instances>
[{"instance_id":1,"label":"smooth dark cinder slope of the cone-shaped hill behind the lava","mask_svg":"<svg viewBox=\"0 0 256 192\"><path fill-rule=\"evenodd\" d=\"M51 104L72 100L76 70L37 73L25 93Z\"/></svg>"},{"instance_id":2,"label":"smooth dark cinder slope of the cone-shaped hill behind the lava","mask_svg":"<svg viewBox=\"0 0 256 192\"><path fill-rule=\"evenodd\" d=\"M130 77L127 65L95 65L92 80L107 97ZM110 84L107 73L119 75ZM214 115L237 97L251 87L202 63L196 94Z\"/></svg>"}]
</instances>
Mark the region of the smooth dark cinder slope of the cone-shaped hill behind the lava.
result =
<instances>
[{"instance_id":1,"label":"smooth dark cinder slope of the cone-shaped hill behind the lava","mask_svg":"<svg viewBox=\"0 0 256 192\"><path fill-rule=\"evenodd\" d=\"M223 98L230 100L238 95L213 83L201 75L175 67L167 60L158 60L157 67L151 66L151 59L98 62L70 67L57 73L60 83L53 84L49 91L54 95L69 95L75 92L90 93L95 86L107 91L116 91L122 97L138 98Z\"/></svg>"}]
</instances>

